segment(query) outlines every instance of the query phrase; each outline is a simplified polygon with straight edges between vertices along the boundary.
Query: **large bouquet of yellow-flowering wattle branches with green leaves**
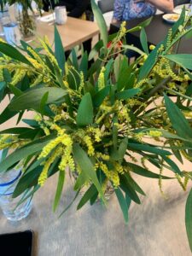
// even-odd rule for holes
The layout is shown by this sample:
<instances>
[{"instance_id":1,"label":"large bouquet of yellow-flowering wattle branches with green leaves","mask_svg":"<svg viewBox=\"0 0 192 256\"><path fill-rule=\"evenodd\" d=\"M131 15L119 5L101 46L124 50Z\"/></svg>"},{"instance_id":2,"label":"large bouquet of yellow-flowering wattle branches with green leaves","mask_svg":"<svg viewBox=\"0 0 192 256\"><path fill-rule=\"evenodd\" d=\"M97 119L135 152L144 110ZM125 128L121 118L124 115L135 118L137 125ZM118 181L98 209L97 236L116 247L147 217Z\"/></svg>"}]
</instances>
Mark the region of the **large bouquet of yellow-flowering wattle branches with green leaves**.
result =
<instances>
[{"instance_id":1,"label":"large bouquet of yellow-flowering wattle branches with green leaves","mask_svg":"<svg viewBox=\"0 0 192 256\"><path fill-rule=\"evenodd\" d=\"M174 160L192 160L192 55L174 53L192 28L186 27L189 18L183 10L166 38L150 46L149 52L142 25L134 30L141 30L143 50L125 44L124 22L117 34L108 36L94 1L92 8L102 40L89 56L83 53L80 61L74 49L66 60L56 27L55 52L47 38L39 39L37 49L21 42L24 54L0 42L1 100L14 95L0 114L0 124L19 113L17 123L22 120L28 125L1 131L0 149L14 152L0 163L0 170L23 166L14 193L16 197L26 191L22 201L59 173L54 211L66 172L77 177L74 199L87 188L78 209L88 201L94 204L97 198L105 203L110 183L127 222L131 201L140 204L139 194L145 195L134 173L157 178L161 192L163 179L175 178L183 190L192 179L191 172L181 171ZM131 64L125 55L130 49L140 55ZM95 61L88 68L92 58ZM36 113L34 119L22 119L27 110ZM148 163L159 171L149 170ZM163 174L164 169L170 171L169 176ZM186 204L190 247L191 204L192 192Z\"/></svg>"}]
</instances>

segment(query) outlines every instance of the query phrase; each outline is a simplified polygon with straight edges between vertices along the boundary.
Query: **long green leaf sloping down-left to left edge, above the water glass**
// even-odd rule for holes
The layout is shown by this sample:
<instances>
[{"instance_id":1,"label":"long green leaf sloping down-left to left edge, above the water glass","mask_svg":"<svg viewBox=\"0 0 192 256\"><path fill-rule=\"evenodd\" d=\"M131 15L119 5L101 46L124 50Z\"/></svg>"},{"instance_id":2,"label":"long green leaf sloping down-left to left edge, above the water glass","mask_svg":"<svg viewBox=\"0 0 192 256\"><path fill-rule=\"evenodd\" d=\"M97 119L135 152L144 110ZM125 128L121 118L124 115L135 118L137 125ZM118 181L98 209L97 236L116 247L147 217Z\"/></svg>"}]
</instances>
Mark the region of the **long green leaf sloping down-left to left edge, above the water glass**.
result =
<instances>
[{"instance_id":1,"label":"long green leaf sloping down-left to left edge, above the water glass","mask_svg":"<svg viewBox=\"0 0 192 256\"><path fill-rule=\"evenodd\" d=\"M54 137L55 135L49 135L47 137L37 139L32 143L28 143L23 148L15 150L14 153L9 154L9 156L5 160L0 162L0 172L6 171L10 166L13 166L18 160L25 158L29 154L39 152Z\"/></svg>"}]
</instances>

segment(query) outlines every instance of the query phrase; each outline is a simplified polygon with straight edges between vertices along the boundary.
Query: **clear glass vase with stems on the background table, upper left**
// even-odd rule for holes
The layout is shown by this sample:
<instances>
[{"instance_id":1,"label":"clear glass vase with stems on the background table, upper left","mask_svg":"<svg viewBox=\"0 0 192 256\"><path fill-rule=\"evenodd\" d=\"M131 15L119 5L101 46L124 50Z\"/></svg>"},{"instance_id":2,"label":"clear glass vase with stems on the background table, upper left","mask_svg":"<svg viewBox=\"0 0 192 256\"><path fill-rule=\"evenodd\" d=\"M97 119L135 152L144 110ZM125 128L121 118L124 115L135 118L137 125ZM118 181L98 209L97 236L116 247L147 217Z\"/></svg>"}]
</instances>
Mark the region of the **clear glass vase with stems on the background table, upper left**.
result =
<instances>
[{"instance_id":1,"label":"clear glass vase with stems on the background table, upper left","mask_svg":"<svg viewBox=\"0 0 192 256\"><path fill-rule=\"evenodd\" d=\"M20 3L15 4L15 19L17 20L20 32L24 38L32 37L36 31L36 20L32 12Z\"/></svg>"}]
</instances>

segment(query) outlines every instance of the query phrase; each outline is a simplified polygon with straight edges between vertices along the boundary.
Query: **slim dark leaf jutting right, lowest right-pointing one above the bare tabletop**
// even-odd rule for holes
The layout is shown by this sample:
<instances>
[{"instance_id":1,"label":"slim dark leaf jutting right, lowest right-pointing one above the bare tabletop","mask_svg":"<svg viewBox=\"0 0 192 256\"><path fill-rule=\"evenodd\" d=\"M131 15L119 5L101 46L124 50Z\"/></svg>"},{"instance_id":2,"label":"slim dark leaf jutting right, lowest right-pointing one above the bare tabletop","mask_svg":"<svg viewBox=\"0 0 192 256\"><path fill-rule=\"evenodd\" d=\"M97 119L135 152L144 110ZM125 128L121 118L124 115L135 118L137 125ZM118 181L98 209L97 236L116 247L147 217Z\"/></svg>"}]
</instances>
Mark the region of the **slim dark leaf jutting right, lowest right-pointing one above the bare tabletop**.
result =
<instances>
[{"instance_id":1,"label":"slim dark leaf jutting right, lowest right-pointing one above the bare tabletop","mask_svg":"<svg viewBox=\"0 0 192 256\"><path fill-rule=\"evenodd\" d=\"M127 165L131 167L131 172L135 172L138 175L141 175L143 177L150 177L150 178L160 178L160 177L162 177L163 179L173 178L173 177L166 177L164 175L160 176L157 173L150 172L150 171L144 169L142 166L137 166L135 164L127 163Z\"/></svg>"}]
</instances>

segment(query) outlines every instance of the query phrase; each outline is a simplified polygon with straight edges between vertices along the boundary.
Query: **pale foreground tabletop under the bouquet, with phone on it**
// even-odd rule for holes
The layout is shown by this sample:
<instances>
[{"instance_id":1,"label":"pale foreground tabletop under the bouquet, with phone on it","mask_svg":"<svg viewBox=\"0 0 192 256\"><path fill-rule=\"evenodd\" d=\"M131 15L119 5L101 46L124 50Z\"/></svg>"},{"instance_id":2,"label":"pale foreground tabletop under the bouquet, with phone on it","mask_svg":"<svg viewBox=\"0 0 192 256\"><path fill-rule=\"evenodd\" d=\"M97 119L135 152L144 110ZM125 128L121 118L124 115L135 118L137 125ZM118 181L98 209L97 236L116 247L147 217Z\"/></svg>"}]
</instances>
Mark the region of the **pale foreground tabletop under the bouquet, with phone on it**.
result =
<instances>
[{"instance_id":1,"label":"pale foreground tabletop under the bouquet, with phone on it","mask_svg":"<svg viewBox=\"0 0 192 256\"><path fill-rule=\"evenodd\" d=\"M0 104L1 111L2 107ZM32 113L28 113L30 115ZM11 120L0 125L0 130L13 123ZM192 165L186 162L182 170L191 171ZM76 212L76 201L65 215L58 218L59 212L73 200L74 193L71 180L67 179L61 207L56 214L53 213L51 204L56 189L55 176L38 190L33 199L32 212L26 219L12 223L0 211L0 233L34 230L35 256L191 255L184 225L188 193L183 192L176 181L165 180L163 190L168 196L165 200L160 194L158 180L136 177L147 196L141 197L142 205L131 204L128 225L124 223L114 195L108 201L108 208L100 203L92 207L87 204Z\"/></svg>"}]
</instances>

